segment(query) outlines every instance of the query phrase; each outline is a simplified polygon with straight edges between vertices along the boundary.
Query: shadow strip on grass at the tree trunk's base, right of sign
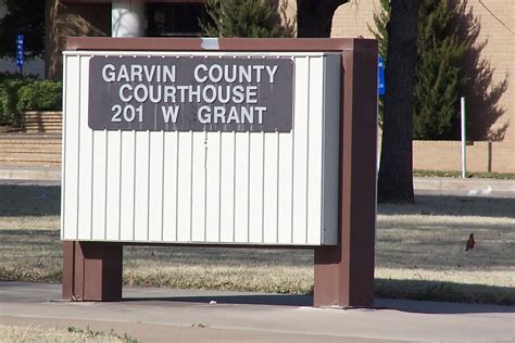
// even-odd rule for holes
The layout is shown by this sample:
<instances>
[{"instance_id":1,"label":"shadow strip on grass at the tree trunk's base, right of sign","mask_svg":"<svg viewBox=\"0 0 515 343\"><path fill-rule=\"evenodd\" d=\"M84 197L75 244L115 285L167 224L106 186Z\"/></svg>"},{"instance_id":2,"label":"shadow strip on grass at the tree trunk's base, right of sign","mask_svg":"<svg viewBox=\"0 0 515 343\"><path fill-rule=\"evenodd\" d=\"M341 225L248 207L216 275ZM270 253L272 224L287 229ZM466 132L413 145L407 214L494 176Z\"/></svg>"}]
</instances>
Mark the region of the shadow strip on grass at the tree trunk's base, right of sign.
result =
<instances>
[{"instance_id":1,"label":"shadow strip on grass at the tree trunk's base, right of sign","mask_svg":"<svg viewBox=\"0 0 515 343\"><path fill-rule=\"evenodd\" d=\"M515 218L515 199L415 195L415 204L379 204L379 215L443 215Z\"/></svg>"}]
</instances>

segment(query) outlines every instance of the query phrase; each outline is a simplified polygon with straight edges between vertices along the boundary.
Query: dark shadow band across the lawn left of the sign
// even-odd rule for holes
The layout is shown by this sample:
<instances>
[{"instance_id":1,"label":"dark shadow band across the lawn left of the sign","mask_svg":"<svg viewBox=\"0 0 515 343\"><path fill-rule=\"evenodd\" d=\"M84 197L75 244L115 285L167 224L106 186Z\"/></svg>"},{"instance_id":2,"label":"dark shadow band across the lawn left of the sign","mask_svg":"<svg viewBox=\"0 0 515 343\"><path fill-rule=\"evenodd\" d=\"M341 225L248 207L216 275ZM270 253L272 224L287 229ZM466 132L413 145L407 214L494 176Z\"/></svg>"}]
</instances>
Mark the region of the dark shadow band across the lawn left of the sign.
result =
<instances>
[{"instance_id":1,"label":"dark shadow band across the lawn left of the sign","mask_svg":"<svg viewBox=\"0 0 515 343\"><path fill-rule=\"evenodd\" d=\"M61 213L61 186L0 185L0 216Z\"/></svg>"}]
</instances>

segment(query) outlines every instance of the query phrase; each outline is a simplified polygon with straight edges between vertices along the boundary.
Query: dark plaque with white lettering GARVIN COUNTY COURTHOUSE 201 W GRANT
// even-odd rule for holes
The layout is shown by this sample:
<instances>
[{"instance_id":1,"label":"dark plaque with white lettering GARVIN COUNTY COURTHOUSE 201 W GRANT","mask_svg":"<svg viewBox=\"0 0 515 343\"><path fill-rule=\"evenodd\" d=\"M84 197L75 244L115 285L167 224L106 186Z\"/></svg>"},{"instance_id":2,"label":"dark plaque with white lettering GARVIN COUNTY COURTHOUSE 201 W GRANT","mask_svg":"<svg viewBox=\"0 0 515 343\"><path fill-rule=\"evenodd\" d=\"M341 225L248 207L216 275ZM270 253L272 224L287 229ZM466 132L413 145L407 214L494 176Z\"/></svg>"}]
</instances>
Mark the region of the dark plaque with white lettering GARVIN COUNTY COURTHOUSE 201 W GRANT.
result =
<instances>
[{"instance_id":1,"label":"dark plaque with white lettering GARVIN COUNTY COURTHOUSE 201 W GRANT","mask_svg":"<svg viewBox=\"0 0 515 343\"><path fill-rule=\"evenodd\" d=\"M292 129L293 61L250 56L92 56L93 130Z\"/></svg>"}]
</instances>

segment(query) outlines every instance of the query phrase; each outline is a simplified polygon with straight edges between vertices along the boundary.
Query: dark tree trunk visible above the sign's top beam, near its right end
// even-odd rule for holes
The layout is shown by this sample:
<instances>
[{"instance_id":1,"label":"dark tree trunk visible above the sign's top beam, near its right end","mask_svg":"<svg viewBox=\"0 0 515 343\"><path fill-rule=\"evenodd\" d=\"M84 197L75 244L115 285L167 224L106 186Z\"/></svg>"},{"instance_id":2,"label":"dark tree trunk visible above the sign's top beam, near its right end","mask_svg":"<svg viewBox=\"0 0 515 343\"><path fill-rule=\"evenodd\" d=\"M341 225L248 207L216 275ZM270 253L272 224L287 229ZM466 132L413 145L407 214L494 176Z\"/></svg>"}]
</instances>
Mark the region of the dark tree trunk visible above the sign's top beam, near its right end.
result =
<instances>
[{"instance_id":1,"label":"dark tree trunk visible above the sign's top beam, near its right end","mask_svg":"<svg viewBox=\"0 0 515 343\"><path fill-rule=\"evenodd\" d=\"M297 0L297 37L330 37L336 9L349 0Z\"/></svg>"}]
</instances>

